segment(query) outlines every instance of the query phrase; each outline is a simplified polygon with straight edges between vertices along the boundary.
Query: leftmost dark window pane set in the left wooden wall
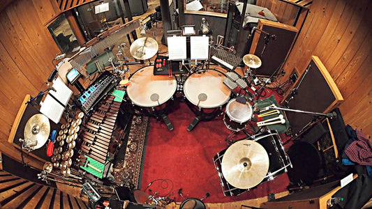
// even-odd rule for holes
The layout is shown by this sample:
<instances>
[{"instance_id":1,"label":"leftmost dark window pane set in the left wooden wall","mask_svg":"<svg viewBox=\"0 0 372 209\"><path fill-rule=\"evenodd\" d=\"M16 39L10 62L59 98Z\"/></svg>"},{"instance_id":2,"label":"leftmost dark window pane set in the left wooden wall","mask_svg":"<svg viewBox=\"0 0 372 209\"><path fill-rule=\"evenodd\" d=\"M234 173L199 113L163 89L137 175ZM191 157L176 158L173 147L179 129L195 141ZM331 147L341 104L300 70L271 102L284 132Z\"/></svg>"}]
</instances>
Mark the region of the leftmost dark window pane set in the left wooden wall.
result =
<instances>
[{"instance_id":1,"label":"leftmost dark window pane set in the left wooden wall","mask_svg":"<svg viewBox=\"0 0 372 209\"><path fill-rule=\"evenodd\" d=\"M54 20L47 29L50 31L61 52L66 54L66 56L72 56L80 49L79 42L77 42L75 34L64 14L60 15L57 20Z\"/></svg>"}]
</instances>

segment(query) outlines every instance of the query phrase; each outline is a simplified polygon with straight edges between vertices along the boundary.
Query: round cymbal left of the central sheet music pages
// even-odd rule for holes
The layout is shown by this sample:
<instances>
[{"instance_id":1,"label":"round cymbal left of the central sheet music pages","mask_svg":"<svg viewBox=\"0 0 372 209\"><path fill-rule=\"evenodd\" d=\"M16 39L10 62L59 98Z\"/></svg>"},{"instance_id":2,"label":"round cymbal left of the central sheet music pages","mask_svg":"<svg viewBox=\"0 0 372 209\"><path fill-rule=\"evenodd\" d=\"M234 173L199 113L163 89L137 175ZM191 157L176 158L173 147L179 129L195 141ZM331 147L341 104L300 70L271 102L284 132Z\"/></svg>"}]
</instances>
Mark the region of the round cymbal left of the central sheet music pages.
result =
<instances>
[{"instance_id":1,"label":"round cymbal left of the central sheet music pages","mask_svg":"<svg viewBox=\"0 0 372 209\"><path fill-rule=\"evenodd\" d=\"M135 40L129 52L135 59L145 60L150 59L158 52L158 42L152 38L142 37Z\"/></svg>"}]
</instances>

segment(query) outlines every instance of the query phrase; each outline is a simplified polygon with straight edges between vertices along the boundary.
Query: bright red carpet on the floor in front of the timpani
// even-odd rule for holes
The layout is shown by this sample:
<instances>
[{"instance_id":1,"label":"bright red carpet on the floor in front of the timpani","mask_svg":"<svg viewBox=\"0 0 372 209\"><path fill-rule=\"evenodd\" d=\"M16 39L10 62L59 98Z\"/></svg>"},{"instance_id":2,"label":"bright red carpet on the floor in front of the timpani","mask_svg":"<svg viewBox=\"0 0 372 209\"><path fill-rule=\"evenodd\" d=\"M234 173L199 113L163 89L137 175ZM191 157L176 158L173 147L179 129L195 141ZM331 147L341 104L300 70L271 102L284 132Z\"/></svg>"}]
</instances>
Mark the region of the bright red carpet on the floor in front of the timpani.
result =
<instances>
[{"instance_id":1,"label":"bright red carpet on the floor in front of the timpani","mask_svg":"<svg viewBox=\"0 0 372 209\"><path fill-rule=\"evenodd\" d=\"M224 196L221 180L212 160L216 153L228 148L225 137L230 130L223 123L223 116L212 121L202 121L188 132L186 128L195 115L184 102L179 102L174 111L168 114L168 118L174 126L172 131L162 121L151 118L142 173L142 191L154 181L148 187L152 193L148 189L145 191L148 194L170 194L171 199L183 201L177 193L182 188L186 199L201 199L208 192L210 196L204 199L204 203L224 203L283 192L288 186L288 176L283 173L239 196ZM244 136L239 134L236 139Z\"/></svg>"}]
</instances>

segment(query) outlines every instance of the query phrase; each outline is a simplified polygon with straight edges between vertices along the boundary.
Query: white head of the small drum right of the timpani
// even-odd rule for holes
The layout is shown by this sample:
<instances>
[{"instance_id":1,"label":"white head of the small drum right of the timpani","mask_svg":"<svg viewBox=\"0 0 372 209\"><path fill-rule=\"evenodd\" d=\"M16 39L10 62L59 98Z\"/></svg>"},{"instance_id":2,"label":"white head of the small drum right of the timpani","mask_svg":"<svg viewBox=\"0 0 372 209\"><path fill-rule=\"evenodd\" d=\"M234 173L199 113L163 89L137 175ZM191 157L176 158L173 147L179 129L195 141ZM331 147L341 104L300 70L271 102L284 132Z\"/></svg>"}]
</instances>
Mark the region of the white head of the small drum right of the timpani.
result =
<instances>
[{"instance_id":1,"label":"white head of the small drum right of the timpani","mask_svg":"<svg viewBox=\"0 0 372 209\"><path fill-rule=\"evenodd\" d=\"M232 99L228 103L228 106L226 106L226 114L228 114L232 121L244 123L252 118L253 108L248 102L242 104L241 102Z\"/></svg>"}]
</instances>

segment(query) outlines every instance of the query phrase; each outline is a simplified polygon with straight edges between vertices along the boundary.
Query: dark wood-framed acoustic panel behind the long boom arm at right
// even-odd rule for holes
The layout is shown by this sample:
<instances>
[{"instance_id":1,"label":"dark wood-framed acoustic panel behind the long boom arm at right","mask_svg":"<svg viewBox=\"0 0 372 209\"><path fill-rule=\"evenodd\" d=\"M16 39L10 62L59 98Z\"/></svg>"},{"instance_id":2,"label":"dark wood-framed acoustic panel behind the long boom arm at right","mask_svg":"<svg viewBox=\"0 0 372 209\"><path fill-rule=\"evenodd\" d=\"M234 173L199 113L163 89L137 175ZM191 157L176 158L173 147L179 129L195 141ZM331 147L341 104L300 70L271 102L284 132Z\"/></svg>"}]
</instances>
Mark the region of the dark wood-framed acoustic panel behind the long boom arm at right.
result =
<instances>
[{"instance_id":1,"label":"dark wood-framed acoustic panel behind the long boom arm at right","mask_svg":"<svg viewBox=\"0 0 372 209\"><path fill-rule=\"evenodd\" d=\"M295 95L288 94L281 105L290 109L327 113L338 107L343 97L338 90L331 75L322 64L318 56L312 56L305 72L297 79L295 84ZM292 134L313 121L311 114L302 114L292 111L285 111L290 122Z\"/></svg>"}]
</instances>

